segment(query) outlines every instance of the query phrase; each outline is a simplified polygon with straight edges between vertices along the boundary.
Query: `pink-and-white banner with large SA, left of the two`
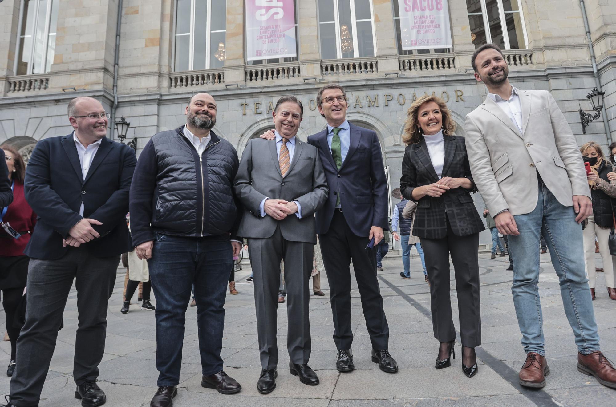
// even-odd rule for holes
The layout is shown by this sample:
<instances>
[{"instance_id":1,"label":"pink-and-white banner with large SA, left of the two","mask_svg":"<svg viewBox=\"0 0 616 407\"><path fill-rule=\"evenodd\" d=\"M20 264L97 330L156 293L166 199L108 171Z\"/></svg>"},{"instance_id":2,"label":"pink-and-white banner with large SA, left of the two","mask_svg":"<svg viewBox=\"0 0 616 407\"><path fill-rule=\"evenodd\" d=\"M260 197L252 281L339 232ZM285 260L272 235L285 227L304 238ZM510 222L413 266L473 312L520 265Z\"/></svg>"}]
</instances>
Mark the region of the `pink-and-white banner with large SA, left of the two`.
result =
<instances>
[{"instance_id":1,"label":"pink-and-white banner with large SA, left of the two","mask_svg":"<svg viewBox=\"0 0 616 407\"><path fill-rule=\"evenodd\" d=\"M297 57L293 0L246 0L246 60Z\"/></svg>"}]
</instances>

